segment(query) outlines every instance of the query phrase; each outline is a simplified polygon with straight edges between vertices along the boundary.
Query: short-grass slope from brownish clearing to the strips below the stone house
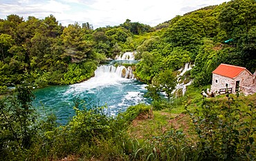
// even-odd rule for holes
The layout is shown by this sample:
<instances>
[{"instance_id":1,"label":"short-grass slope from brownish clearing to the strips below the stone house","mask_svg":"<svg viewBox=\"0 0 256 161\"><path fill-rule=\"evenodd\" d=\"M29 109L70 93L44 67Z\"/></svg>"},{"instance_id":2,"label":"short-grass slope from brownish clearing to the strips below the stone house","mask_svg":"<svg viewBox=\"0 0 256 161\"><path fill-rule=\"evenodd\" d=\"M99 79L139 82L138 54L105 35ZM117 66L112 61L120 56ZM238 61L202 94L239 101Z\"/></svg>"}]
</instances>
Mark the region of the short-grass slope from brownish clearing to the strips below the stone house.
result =
<instances>
[{"instance_id":1,"label":"short-grass slope from brownish clearing to the strips below the stone house","mask_svg":"<svg viewBox=\"0 0 256 161\"><path fill-rule=\"evenodd\" d=\"M205 88L208 88L206 86ZM161 111L153 111L154 117L152 119L137 118L129 126L128 132L131 138L138 140L152 140L156 136L164 135L170 129L182 130L186 135L193 136L194 129L191 124L190 116L185 111L185 106L188 109L194 110L201 106L200 100L202 95L200 89L190 88L184 97L180 97L172 103L172 108L166 108ZM231 95L235 97L235 95ZM207 98L208 100L216 101L216 104L223 104L227 101L226 95L219 95L216 98ZM239 97L242 104L256 104L256 94L248 97L241 95Z\"/></svg>"}]
</instances>

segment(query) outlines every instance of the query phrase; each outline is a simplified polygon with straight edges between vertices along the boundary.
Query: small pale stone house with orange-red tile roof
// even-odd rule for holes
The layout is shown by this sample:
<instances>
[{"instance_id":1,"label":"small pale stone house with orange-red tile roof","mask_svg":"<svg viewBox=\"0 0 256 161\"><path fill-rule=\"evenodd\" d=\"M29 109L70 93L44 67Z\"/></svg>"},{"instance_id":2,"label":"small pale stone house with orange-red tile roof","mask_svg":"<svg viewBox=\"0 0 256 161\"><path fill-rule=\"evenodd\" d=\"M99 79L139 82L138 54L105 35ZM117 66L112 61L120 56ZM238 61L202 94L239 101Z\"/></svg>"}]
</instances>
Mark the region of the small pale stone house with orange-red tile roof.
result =
<instances>
[{"instance_id":1,"label":"small pale stone house with orange-red tile roof","mask_svg":"<svg viewBox=\"0 0 256 161\"><path fill-rule=\"evenodd\" d=\"M256 72L254 75L244 67L220 64L212 72L211 92L253 94L256 93Z\"/></svg>"}]
</instances>

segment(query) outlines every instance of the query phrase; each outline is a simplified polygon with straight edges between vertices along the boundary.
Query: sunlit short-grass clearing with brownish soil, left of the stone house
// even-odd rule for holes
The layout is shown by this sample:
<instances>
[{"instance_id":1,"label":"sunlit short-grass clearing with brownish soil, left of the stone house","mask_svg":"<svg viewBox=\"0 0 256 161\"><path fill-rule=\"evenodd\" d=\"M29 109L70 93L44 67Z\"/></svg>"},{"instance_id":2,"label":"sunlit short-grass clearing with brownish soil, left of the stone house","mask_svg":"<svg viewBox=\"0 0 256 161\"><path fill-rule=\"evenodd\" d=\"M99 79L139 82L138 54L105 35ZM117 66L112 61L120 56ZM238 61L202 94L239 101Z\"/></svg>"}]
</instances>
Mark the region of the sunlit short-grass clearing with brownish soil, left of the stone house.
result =
<instances>
[{"instance_id":1,"label":"sunlit short-grass clearing with brownish soil, left of the stone house","mask_svg":"<svg viewBox=\"0 0 256 161\"><path fill-rule=\"evenodd\" d=\"M172 128L182 129L188 133L190 129L190 117L186 114L185 106L195 108L196 104L191 103L194 98L201 100L202 96L194 88L188 88L185 97L178 97L171 100L171 108L161 111L153 111L152 119L134 120L129 126L128 133L131 138L139 140L152 140L156 136L161 136Z\"/></svg>"}]
</instances>

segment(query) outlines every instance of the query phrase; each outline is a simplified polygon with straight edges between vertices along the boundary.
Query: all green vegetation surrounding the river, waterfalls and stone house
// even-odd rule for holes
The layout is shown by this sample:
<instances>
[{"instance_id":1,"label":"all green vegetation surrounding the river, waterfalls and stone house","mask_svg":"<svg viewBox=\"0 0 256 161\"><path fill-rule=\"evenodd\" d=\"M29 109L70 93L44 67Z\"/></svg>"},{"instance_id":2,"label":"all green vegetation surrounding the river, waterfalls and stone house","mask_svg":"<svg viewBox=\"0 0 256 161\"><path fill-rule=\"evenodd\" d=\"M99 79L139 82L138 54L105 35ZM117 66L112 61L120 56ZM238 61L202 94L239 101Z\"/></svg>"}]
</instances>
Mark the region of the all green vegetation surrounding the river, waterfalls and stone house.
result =
<instances>
[{"instance_id":1,"label":"all green vegetation surrounding the river, waterfalls and stone house","mask_svg":"<svg viewBox=\"0 0 256 161\"><path fill-rule=\"evenodd\" d=\"M95 30L89 23L64 27L53 15L1 19L1 93L17 85L0 102L1 160L254 160L255 95L198 94L221 63L255 71L254 12L254 0L232 0L154 28L127 19ZM131 106L113 118L107 107L87 109L77 99L66 125L35 113L30 88L82 82L102 59L130 50L138 50L135 75L148 84L152 106ZM174 75L189 61L194 67L185 75L193 85L171 100ZM168 101L159 97L163 91Z\"/></svg>"}]
</instances>

